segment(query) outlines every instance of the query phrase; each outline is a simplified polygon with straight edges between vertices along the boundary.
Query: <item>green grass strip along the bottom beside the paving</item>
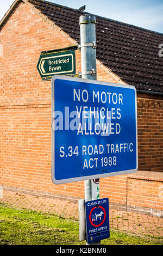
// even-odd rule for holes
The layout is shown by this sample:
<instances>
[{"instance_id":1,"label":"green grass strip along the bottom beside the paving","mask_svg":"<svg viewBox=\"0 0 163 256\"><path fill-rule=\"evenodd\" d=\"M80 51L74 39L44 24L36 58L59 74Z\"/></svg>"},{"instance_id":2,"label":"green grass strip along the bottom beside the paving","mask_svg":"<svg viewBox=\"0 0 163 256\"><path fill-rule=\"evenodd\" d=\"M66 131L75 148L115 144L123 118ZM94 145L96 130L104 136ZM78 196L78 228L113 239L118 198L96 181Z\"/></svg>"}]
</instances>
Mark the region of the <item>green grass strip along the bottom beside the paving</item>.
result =
<instances>
[{"instance_id":1,"label":"green grass strip along the bottom beside the paving","mask_svg":"<svg viewBox=\"0 0 163 256\"><path fill-rule=\"evenodd\" d=\"M85 245L79 242L78 228L77 220L0 204L0 245ZM101 244L162 245L162 240L111 231Z\"/></svg>"}]
</instances>

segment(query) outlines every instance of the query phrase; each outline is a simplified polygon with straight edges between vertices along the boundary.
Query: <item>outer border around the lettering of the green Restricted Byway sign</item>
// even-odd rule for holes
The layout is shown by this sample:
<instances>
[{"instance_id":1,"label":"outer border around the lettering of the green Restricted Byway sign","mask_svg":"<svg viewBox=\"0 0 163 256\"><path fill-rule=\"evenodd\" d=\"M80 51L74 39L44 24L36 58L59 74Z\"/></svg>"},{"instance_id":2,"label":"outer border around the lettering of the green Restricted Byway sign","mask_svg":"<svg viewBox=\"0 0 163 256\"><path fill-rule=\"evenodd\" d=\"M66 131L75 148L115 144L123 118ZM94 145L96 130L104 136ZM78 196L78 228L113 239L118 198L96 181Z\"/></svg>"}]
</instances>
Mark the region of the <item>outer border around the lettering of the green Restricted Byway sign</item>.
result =
<instances>
[{"instance_id":1,"label":"outer border around the lettering of the green Restricted Byway sign","mask_svg":"<svg viewBox=\"0 0 163 256\"><path fill-rule=\"evenodd\" d=\"M68 71L62 71L62 72L59 72L59 71L57 71L57 72L51 72L50 74L45 74L45 75L43 75L42 73L41 73L41 70L40 70L40 64L41 64L41 60L43 59L43 58L45 58L45 59L47 59L47 58L53 58L53 57L57 57L57 56L68 56L68 55L70 55L70 56L72 56L72 59L73 59L73 61L72 61L72 64L73 64L73 67L72 67L72 70L70 71L70 72L68 72ZM74 50L70 50L70 51L66 51L66 50L62 50L62 51L59 51L59 50L55 50L55 51L51 51L51 52L46 52L46 53L44 53L44 52L41 52L41 55L40 55L40 58L39 58L39 62L37 63L37 70L39 71L39 74L40 74L40 76L41 76L41 78L42 78L42 80L51 80L51 78L54 76L54 75L75 75L76 74L76 54L75 54L75 49Z\"/></svg>"}]
</instances>

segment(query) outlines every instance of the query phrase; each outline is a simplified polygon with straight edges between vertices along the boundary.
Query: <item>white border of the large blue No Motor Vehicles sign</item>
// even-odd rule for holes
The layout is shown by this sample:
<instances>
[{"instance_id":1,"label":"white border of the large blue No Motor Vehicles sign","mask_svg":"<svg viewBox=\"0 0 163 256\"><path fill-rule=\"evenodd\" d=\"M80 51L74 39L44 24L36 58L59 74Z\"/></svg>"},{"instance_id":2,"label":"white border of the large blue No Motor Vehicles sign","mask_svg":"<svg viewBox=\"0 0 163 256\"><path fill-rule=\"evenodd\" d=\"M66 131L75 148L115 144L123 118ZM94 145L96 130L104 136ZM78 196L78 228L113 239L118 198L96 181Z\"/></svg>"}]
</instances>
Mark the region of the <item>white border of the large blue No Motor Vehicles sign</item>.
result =
<instances>
[{"instance_id":1,"label":"white border of the large blue No Motor Vehicles sign","mask_svg":"<svg viewBox=\"0 0 163 256\"><path fill-rule=\"evenodd\" d=\"M52 127L52 181L54 184L65 184L70 182L77 182L82 180L92 180L92 179L100 179L100 178L106 178L109 176L116 176L116 175L123 175L123 174L129 174L129 173L135 173L138 168L138 150L137 150L137 95L136 95L136 88L134 86L129 86L126 84L117 84L117 83L109 83L109 82L103 82L103 81L97 81L97 80L87 80L77 77L67 77L67 76L60 76L60 75L54 75L52 77L52 115L55 111L54 109L54 81L56 79L60 80L69 80L69 81L77 81L77 82L83 82L83 83L93 83L93 84L101 84L103 86L115 86L115 87L121 87L121 88L130 88L134 89L135 91L135 118L136 118L136 168L131 170L121 170L120 172L112 172L112 173L103 173L103 174L96 174L96 175L90 175L90 176L80 176L70 179L61 179L56 180L55 179L55 131ZM53 117L52 117L52 124L53 124Z\"/></svg>"}]
</instances>

